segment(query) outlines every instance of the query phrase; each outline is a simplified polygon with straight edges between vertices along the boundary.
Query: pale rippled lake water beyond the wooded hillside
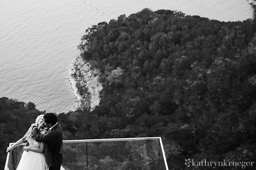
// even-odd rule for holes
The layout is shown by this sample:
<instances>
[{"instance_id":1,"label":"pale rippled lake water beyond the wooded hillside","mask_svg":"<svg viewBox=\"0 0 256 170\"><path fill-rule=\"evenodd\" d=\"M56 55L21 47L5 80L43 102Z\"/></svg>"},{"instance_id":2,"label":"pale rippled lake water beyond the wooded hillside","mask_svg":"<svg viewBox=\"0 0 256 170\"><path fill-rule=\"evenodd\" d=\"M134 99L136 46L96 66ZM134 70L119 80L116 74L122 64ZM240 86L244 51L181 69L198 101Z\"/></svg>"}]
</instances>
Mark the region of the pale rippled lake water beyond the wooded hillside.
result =
<instances>
[{"instance_id":1,"label":"pale rippled lake water beyond the wooded hillside","mask_svg":"<svg viewBox=\"0 0 256 170\"><path fill-rule=\"evenodd\" d=\"M68 112L76 99L67 80L85 30L149 8L220 21L252 18L246 0L1 0L0 97Z\"/></svg>"}]
</instances>

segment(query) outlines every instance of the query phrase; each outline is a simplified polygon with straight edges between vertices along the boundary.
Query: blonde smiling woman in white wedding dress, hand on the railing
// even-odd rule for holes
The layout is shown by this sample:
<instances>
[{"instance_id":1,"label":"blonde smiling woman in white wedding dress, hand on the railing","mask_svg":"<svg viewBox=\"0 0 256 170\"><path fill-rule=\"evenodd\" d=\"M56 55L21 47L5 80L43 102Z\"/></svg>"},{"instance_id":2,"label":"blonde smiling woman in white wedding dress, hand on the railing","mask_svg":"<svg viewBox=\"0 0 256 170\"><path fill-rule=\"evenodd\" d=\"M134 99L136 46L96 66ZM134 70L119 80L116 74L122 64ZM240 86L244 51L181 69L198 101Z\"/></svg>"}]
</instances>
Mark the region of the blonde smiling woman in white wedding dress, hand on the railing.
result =
<instances>
[{"instance_id":1,"label":"blonde smiling woman in white wedding dress, hand on the railing","mask_svg":"<svg viewBox=\"0 0 256 170\"><path fill-rule=\"evenodd\" d=\"M48 130L47 127L45 127L43 116L44 115L39 115L35 122L36 127L41 134L45 134ZM36 142L31 134L31 129L32 128L30 127L21 139L15 142L14 145L8 147L6 152L11 152L16 146L23 144L25 140L27 140L29 142L29 146L23 147L24 151L16 170L48 170L49 167L46 164L45 156L43 154L45 143Z\"/></svg>"}]
</instances>

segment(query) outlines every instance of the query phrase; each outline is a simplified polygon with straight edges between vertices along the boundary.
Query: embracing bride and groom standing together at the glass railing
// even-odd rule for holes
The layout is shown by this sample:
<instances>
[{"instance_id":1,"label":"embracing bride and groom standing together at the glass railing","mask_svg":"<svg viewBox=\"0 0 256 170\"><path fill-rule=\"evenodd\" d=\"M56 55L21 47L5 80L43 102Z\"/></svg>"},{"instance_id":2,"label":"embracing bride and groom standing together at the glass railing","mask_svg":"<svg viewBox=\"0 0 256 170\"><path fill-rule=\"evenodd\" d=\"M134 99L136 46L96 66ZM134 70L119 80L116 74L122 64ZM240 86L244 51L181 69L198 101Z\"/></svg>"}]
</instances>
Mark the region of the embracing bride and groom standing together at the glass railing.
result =
<instances>
[{"instance_id":1,"label":"embracing bride and groom standing together at the glass railing","mask_svg":"<svg viewBox=\"0 0 256 170\"><path fill-rule=\"evenodd\" d=\"M57 116L46 113L39 115L27 133L6 151L11 152L16 146L28 141L29 145L23 147L17 170L60 170L63 160L62 140L62 129Z\"/></svg>"}]
</instances>

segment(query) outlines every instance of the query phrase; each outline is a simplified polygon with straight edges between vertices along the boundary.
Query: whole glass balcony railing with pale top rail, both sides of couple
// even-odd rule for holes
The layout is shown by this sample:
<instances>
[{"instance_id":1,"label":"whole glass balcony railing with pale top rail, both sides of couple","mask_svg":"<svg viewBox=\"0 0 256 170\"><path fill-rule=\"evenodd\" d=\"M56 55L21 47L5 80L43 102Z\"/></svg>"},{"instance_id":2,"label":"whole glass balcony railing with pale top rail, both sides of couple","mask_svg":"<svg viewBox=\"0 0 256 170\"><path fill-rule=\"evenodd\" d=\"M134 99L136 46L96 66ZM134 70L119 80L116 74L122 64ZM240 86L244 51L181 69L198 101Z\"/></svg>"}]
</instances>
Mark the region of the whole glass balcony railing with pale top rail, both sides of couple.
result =
<instances>
[{"instance_id":1,"label":"whole glass balcony railing with pale top rail, both sides of couple","mask_svg":"<svg viewBox=\"0 0 256 170\"><path fill-rule=\"evenodd\" d=\"M63 141L62 170L167 170L166 160L155 139L95 139ZM5 170L16 170L23 145L14 148Z\"/></svg>"}]
</instances>

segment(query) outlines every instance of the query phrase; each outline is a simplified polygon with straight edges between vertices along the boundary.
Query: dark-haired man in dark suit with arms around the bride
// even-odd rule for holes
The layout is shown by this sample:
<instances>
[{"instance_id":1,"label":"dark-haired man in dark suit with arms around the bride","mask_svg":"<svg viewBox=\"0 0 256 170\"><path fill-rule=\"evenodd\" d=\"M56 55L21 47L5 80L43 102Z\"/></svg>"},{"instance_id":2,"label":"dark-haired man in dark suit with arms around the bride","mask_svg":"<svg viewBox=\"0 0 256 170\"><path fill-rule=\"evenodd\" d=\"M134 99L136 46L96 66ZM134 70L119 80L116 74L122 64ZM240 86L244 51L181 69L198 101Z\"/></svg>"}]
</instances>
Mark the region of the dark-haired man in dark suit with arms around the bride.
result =
<instances>
[{"instance_id":1,"label":"dark-haired man in dark suit with arms around the bride","mask_svg":"<svg viewBox=\"0 0 256 170\"><path fill-rule=\"evenodd\" d=\"M57 122L57 116L53 113L46 113L44 115L45 126L49 130L43 135L39 134L36 126L32 124L32 134L36 142L45 142L44 155L46 163L49 166L49 170L60 170L63 160L61 145L63 140L63 134L61 126Z\"/></svg>"}]
</instances>

